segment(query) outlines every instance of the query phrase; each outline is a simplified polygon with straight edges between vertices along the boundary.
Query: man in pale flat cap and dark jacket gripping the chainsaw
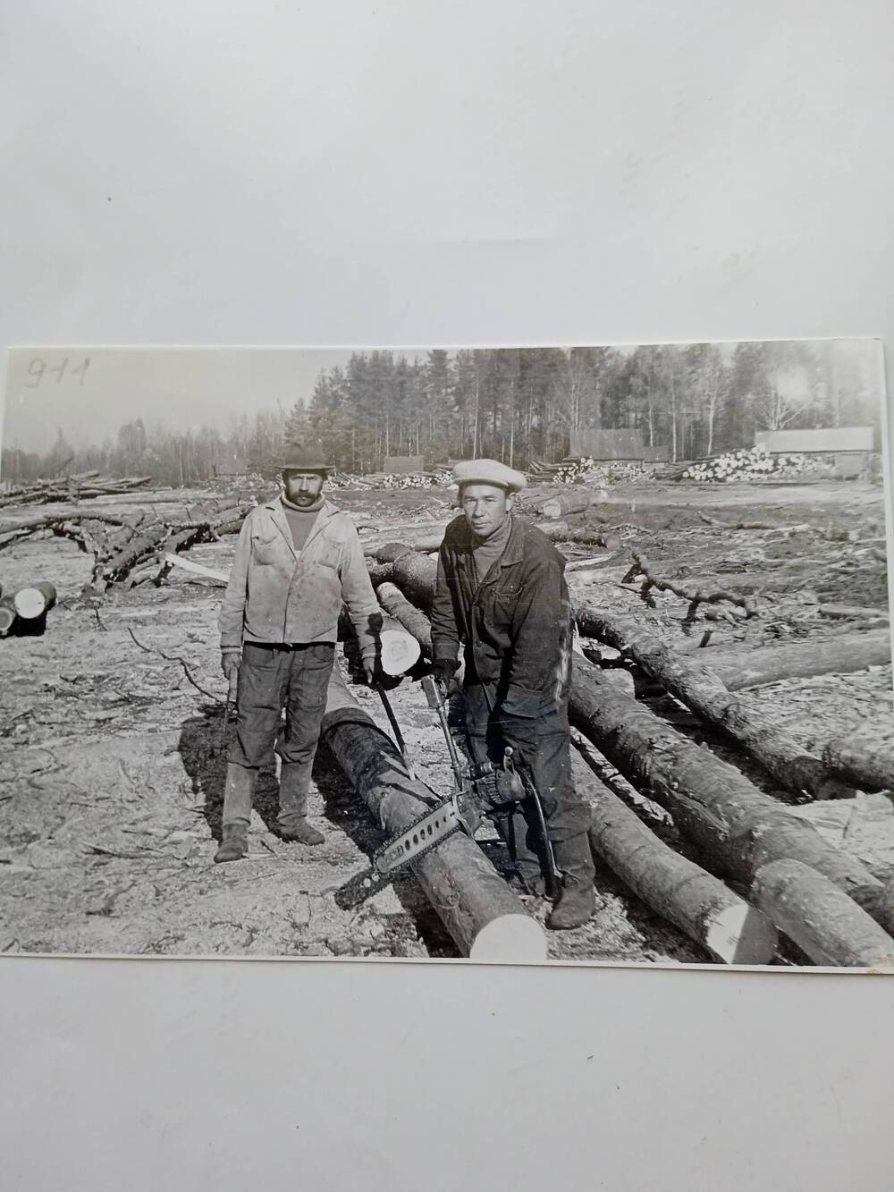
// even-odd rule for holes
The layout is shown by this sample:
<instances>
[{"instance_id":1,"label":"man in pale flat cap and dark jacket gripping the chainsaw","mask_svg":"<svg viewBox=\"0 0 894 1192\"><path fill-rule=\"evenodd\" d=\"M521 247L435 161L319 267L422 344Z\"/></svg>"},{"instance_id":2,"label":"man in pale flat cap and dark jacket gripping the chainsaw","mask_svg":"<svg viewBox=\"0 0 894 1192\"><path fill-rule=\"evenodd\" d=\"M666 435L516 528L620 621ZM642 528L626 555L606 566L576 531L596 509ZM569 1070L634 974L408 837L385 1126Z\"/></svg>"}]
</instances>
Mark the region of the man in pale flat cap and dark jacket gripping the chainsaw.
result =
<instances>
[{"instance_id":1,"label":"man in pale flat cap and dark jacket gripping the chainsaw","mask_svg":"<svg viewBox=\"0 0 894 1192\"><path fill-rule=\"evenodd\" d=\"M470 752L498 765L507 746L540 797L563 887L547 925L577 927L594 912L589 813L571 780L567 702L571 608L565 560L536 527L513 516L526 479L492 459L457 464L461 516L439 553L432 610L435 671L449 688L465 663ZM532 799L495 808L519 876L542 889L548 864Z\"/></svg>"}]
</instances>

